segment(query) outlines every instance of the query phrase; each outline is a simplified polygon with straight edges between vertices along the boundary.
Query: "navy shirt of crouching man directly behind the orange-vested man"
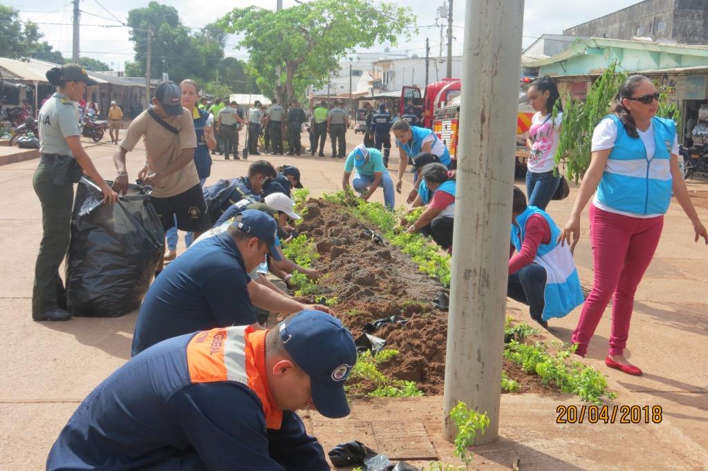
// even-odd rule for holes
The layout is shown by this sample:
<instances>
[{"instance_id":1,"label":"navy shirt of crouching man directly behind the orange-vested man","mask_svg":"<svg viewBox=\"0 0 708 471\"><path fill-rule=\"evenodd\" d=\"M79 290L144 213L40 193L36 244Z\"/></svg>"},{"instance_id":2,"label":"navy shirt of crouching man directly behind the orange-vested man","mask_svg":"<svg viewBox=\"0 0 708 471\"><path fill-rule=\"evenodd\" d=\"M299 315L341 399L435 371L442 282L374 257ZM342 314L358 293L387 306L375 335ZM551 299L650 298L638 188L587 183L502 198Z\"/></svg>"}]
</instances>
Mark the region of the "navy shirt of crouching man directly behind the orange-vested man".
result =
<instances>
[{"instance_id":1,"label":"navy shirt of crouching man directly behind the orange-vested man","mask_svg":"<svg viewBox=\"0 0 708 471\"><path fill-rule=\"evenodd\" d=\"M202 240L167 265L147 290L131 355L189 332L253 324L249 281L241 252L228 233Z\"/></svg>"}]
</instances>

